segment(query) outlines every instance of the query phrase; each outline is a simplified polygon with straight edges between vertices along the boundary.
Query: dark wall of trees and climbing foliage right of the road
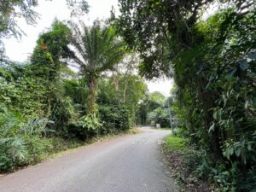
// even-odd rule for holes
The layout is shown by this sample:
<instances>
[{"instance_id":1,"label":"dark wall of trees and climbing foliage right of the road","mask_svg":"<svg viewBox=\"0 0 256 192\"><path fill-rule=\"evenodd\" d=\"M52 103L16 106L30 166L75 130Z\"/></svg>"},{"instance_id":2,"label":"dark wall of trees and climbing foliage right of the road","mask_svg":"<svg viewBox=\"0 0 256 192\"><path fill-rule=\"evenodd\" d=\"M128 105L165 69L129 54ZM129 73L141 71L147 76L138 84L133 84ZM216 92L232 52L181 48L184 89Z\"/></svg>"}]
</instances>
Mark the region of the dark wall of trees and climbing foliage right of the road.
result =
<instances>
[{"instance_id":1,"label":"dark wall of trees and climbing foliage right of the road","mask_svg":"<svg viewBox=\"0 0 256 192\"><path fill-rule=\"evenodd\" d=\"M119 32L143 60L140 73L172 76L183 137L204 177L224 191L256 187L255 2L119 0ZM219 5L207 19L205 10Z\"/></svg>"}]
</instances>

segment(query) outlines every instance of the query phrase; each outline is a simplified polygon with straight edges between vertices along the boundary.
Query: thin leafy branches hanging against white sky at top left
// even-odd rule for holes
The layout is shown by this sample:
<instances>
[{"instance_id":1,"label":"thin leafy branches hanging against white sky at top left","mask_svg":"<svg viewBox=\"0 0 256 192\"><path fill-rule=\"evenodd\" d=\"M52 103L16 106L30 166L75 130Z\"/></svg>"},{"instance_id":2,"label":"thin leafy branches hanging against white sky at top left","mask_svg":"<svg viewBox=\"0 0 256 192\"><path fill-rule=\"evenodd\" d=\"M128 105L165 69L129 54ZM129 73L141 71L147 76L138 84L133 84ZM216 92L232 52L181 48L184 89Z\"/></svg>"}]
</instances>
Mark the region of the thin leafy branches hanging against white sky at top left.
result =
<instances>
[{"instance_id":1,"label":"thin leafy branches hanging against white sky at top left","mask_svg":"<svg viewBox=\"0 0 256 192\"><path fill-rule=\"evenodd\" d=\"M4 56L3 38L20 38L25 32L20 28L17 18L23 18L28 25L35 25L38 13L34 10L38 0L1 0L0 1L0 64L7 61ZM88 13L89 4L85 0L67 0L71 16Z\"/></svg>"}]
</instances>

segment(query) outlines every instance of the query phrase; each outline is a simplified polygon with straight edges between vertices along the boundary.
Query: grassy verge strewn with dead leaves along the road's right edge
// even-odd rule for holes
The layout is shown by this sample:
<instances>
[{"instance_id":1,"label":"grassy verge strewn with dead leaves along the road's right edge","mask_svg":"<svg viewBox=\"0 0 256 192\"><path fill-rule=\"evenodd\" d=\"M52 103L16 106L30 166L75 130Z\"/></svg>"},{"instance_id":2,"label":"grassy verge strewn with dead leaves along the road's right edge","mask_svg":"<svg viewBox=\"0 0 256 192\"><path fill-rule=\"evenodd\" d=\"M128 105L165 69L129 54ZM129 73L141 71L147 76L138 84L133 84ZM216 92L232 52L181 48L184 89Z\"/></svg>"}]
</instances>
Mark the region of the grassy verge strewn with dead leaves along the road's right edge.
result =
<instances>
[{"instance_id":1,"label":"grassy verge strewn with dead leaves along the road's right edge","mask_svg":"<svg viewBox=\"0 0 256 192\"><path fill-rule=\"evenodd\" d=\"M180 184L180 190L186 192L218 191L207 182L201 171L201 152L185 145L185 139L169 135L165 137L162 151L172 177Z\"/></svg>"}]
</instances>

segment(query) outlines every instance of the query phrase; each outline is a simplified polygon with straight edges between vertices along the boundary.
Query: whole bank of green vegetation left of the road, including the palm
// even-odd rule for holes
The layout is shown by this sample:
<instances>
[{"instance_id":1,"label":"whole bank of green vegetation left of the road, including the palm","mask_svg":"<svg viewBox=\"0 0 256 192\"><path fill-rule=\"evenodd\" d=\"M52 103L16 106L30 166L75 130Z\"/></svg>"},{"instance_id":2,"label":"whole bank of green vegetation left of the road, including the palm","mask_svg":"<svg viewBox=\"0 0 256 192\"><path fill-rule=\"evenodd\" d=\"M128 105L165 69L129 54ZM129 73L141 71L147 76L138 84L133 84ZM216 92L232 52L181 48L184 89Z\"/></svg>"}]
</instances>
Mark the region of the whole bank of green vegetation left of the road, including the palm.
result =
<instances>
[{"instance_id":1,"label":"whole bank of green vegetation left of the road, including the palm","mask_svg":"<svg viewBox=\"0 0 256 192\"><path fill-rule=\"evenodd\" d=\"M15 9L37 19L32 11L37 1L0 6L1 39L22 34L13 20ZM148 91L132 73L136 57L125 50L113 26L99 20L92 26L55 20L26 63L9 61L2 49L0 172L135 125L137 103Z\"/></svg>"}]
</instances>

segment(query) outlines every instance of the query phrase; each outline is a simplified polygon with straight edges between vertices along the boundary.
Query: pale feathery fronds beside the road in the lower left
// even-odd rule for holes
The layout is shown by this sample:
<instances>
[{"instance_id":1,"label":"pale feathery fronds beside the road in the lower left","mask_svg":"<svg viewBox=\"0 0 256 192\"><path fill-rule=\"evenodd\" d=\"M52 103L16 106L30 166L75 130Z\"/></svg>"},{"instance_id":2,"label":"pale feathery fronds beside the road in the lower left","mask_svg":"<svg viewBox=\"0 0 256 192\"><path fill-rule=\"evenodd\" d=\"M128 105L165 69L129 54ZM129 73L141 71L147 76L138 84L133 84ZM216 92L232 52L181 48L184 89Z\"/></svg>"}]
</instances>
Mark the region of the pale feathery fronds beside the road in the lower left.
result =
<instances>
[{"instance_id":1,"label":"pale feathery fronds beside the road in the lower left","mask_svg":"<svg viewBox=\"0 0 256 192\"><path fill-rule=\"evenodd\" d=\"M43 135L49 131L48 119L29 119L24 122L20 113L1 108L0 113L0 171L41 160L50 148Z\"/></svg>"}]
</instances>

